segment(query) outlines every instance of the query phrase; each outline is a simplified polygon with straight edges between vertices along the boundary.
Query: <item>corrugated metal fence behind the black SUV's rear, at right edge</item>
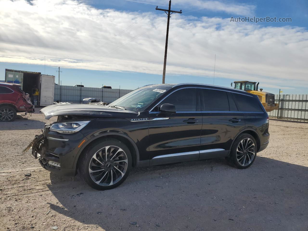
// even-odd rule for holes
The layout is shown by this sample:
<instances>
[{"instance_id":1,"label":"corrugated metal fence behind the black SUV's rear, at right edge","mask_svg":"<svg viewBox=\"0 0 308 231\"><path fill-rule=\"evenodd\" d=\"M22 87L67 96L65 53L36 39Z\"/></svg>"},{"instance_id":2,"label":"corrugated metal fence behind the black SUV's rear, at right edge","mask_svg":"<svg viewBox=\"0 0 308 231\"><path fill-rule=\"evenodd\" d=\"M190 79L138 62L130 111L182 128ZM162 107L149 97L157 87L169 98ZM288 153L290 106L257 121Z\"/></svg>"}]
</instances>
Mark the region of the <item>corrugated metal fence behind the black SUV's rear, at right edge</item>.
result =
<instances>
[{"instance_id":1,"label":"corrugated metal fence behind the black SUV's rear, at right edge","mask_svg":"<svg viewBox=\"0 0 308 231\"><path fill-rule=\"evenodd\" d=\"M278 110L268 112L269 116L308 121L308 95L275 95L275 103Z\"/></svg>"}]
</instances>

